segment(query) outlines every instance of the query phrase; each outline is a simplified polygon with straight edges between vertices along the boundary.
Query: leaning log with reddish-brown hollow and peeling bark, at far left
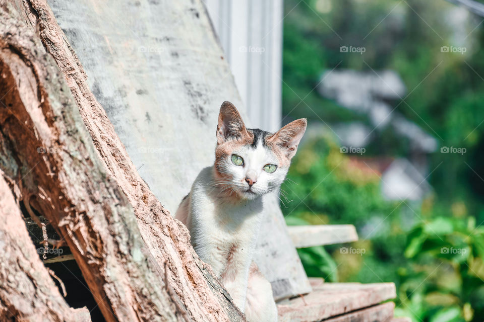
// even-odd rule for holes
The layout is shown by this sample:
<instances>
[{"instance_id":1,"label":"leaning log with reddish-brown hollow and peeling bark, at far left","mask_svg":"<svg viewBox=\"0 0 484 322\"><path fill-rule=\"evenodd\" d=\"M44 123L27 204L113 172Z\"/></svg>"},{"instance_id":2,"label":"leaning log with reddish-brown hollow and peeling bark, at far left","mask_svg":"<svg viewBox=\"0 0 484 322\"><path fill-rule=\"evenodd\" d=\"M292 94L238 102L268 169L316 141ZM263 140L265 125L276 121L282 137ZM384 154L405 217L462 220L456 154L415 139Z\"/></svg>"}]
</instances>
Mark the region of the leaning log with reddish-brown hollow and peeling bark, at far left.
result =
<instances>
[{"instance_id":1,"label":"leaning log with reddish-brown hollow and peeling bark, at far left","mask_svg":"<svg viewBox=\"0 0 484 322\"><path fill-rule=\"evenodd\" d=\"M14 16L14 11L9 11ZM69 89L32 32L2 15L2 168L63 236L108 321L181 320L142 253L133 209L99 162Z\"/></svg>"}]
</instances>

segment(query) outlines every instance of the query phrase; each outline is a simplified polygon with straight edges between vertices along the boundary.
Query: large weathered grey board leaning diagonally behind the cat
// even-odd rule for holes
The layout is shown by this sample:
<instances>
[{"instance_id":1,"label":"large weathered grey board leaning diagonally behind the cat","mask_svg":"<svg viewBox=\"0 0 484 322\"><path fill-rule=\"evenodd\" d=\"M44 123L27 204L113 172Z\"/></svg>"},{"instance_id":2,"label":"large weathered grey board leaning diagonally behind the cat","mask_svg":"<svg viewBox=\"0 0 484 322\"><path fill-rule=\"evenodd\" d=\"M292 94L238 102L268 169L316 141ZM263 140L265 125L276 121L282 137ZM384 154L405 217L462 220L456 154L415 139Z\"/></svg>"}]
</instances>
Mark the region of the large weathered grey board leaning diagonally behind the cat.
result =
<instances>
[{"instance_id":1,"label":"large weathered grey board leaning diagonally behind the cat","mask_svg":"<svg viewBox=\"0 0 484 322\"><path fill-rule=\"evenodd\" d=\"M203 4L48 3L138 172L174 213L213 164L221 103L232 101L247 120ZM255 259L276 298L311 290L276 196L268 199L259 245Z\"/></svg>"}]
</instances>

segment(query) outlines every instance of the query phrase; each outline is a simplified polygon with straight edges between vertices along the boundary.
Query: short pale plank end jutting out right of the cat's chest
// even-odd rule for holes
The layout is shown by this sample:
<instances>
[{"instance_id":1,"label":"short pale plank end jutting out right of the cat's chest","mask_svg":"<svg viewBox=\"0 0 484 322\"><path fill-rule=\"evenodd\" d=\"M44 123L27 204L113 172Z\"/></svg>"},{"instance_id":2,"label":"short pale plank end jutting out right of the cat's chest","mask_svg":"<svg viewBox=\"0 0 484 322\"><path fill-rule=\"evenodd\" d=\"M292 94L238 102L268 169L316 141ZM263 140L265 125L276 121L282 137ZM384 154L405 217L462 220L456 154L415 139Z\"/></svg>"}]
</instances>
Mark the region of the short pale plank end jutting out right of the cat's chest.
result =
<instances>
[{"instance_id":1,"label":"short pale plank end jutting out right of the cat's chest","mask_svg":"<svg viewBox=\"0 0 484 322\"><path fill-rule=\"evenodd\" d=\"M288 226L289 235L296 248L350 243L358 240L353 225L304 225Z\"/></svg>"}]
</instances>

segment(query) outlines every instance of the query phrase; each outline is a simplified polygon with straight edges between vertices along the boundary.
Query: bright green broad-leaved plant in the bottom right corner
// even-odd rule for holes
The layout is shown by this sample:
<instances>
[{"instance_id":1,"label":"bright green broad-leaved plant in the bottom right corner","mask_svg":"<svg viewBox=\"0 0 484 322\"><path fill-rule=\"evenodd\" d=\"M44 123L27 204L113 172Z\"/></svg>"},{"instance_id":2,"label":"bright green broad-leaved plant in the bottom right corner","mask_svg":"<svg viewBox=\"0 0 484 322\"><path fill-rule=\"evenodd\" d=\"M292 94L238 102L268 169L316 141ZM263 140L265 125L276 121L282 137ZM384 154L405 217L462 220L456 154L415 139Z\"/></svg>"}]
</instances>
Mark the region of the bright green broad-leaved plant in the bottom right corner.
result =
<instances>
[{"instance_id":1,"label":"bright green broad-leaved plant in the bottom right corner","mask_svg":"<svg viewBox=\"0 0 484 322\"><path fill-rule=\"evenodd\" d=\"M401 311L417 320L482 320L484 227L474 217L422 220L404 255L413 265L400 272Z\"/></svg>"}]
</instances>

